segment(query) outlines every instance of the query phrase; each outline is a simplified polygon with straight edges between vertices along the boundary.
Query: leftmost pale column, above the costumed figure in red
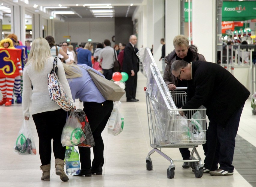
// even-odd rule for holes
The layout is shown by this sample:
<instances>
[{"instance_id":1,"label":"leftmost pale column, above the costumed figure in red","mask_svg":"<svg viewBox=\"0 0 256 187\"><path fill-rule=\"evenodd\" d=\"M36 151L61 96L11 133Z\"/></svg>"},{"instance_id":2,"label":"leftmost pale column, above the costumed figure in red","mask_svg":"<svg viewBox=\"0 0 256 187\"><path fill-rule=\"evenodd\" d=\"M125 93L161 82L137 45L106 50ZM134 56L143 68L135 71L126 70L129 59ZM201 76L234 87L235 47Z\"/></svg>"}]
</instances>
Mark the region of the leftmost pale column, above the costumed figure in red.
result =
<instances>
[{"instance_id":1,"label":"leftmost pale column, above the costumed figure in red","mask_svg":"<svg viewBox=\"0 0 256 187\"><path fill-rule=\"evenodd\" d=\"M25 7L14 5L11 9L11 32L16 34L23 43L26 39Z\"/></svg>"}]
</instances>

